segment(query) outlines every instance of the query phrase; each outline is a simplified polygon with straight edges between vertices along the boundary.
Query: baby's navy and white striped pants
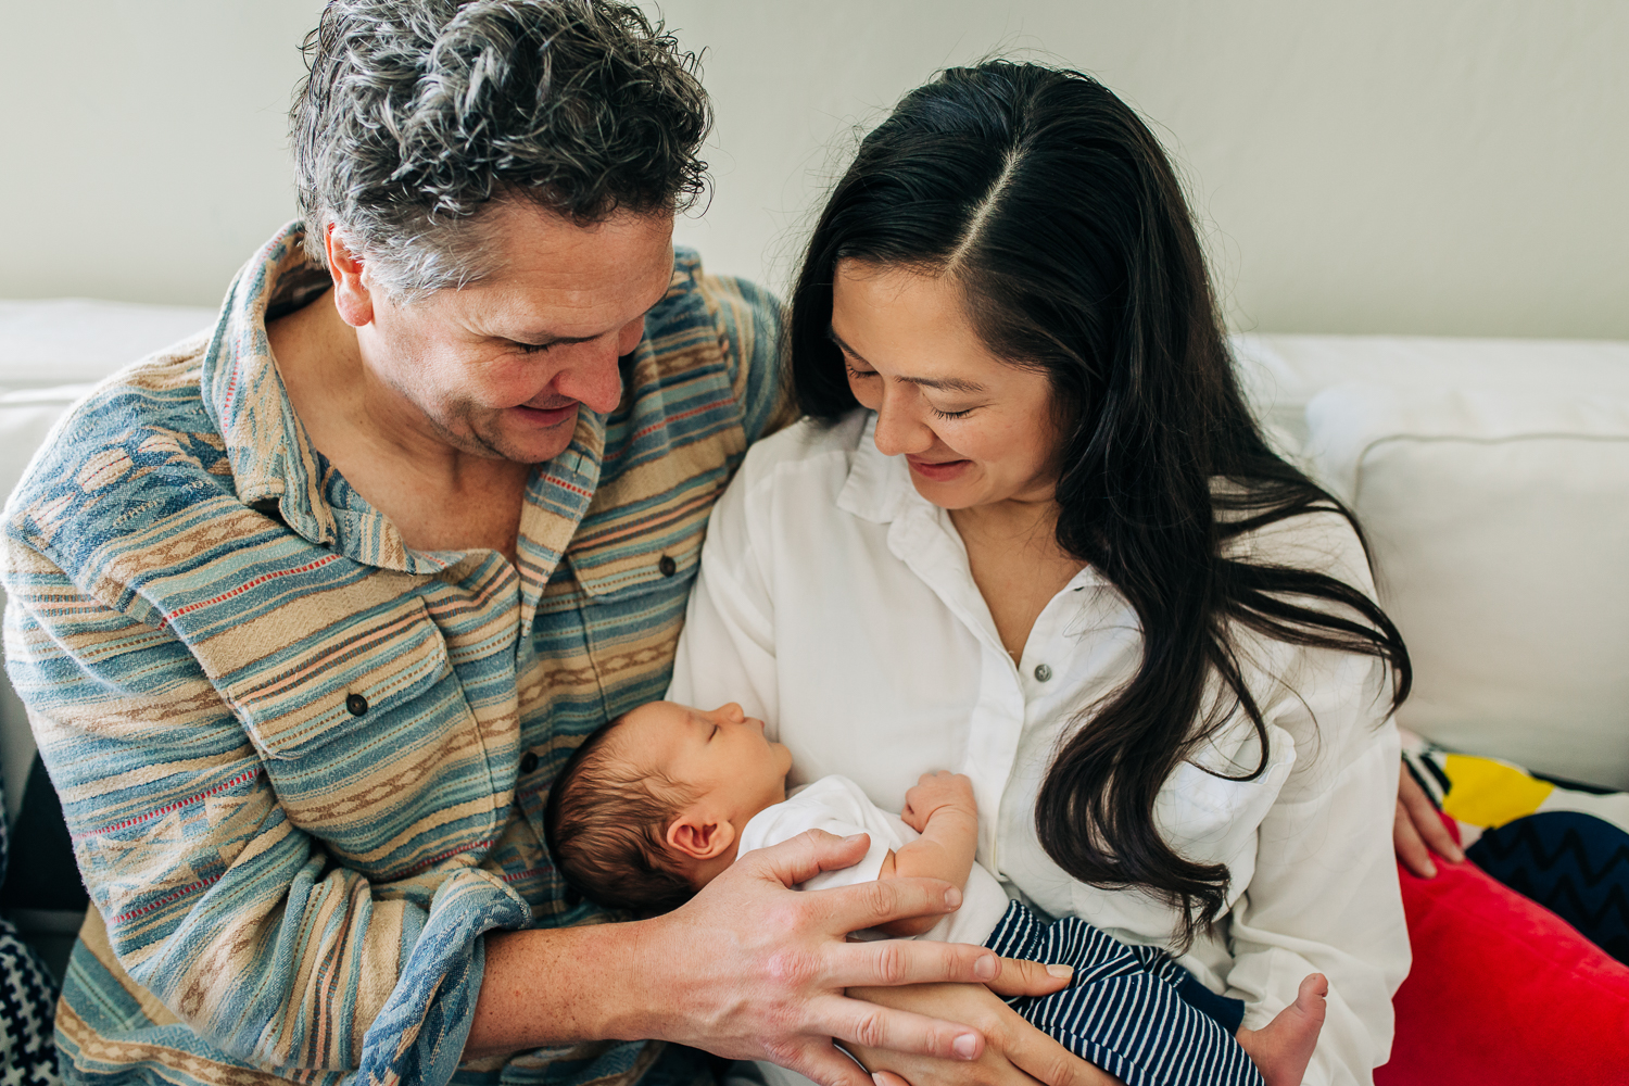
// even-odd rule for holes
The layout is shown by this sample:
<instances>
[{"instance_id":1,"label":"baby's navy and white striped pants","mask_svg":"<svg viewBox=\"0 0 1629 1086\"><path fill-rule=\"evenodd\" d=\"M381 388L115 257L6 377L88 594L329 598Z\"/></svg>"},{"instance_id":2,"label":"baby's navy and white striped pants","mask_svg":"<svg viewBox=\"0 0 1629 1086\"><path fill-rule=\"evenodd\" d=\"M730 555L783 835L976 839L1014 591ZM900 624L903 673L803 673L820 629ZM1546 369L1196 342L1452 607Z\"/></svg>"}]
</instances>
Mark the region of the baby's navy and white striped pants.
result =
<instances>
[{"instance_id":1,"label":"baby's navy and white striped pants","mask_svg":"<svg viewBox=\"0 0 1629 1086\"><path fill-rule=\"evenodd\" d=\"M1262 1086L1238 1040L1176 990L1181 966L1090 923L1043 923L1013 902L986 946L1003 957L1075 967L1062 992L1008 1000L1034 1027L1126 1086Z\"/></svg>"}]
</instances>

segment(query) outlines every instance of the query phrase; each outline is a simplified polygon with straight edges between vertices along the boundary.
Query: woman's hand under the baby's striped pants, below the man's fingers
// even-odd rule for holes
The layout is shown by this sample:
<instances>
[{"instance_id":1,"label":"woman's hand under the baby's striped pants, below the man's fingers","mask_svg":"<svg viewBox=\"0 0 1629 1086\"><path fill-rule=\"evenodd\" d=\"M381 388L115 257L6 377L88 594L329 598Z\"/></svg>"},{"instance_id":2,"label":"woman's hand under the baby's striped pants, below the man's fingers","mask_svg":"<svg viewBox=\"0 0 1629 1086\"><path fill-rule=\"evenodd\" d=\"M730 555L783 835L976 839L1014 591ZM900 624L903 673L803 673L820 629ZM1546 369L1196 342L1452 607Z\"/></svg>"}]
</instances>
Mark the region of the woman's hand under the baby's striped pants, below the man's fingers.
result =
<instances>
[{"instance_id":1,"label":"woman's hand under the baby's striped pants, below the man's fingers","mask_svg":"<svg viewBox=\"0 0 1629 1086\"><path fill-rule=\"evenodd\" d=\"M1002 995L1002 983L992 983ZM845 1044L875 1073L876 1086L1122 1086L1103 1071L1031 1026L984 985L935 983L912 988L850 988L849 995L935 1018L968 1023L984 1034L984 1052L973 1066L929 1055L904 1055Z\"/></svg>"}]
</instances>

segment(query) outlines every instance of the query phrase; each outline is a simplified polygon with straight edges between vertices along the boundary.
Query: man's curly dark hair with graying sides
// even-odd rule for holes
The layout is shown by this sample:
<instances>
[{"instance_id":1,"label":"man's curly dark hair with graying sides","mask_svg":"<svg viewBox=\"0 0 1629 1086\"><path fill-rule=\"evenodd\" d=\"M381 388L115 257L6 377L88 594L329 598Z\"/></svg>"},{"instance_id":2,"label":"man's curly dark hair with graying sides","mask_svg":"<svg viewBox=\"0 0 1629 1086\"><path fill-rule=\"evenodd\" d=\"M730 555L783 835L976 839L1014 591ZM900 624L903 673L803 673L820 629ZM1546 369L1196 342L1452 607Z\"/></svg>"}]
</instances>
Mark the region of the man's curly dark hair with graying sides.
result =
<instances>
[{"instance_id":1,"label":"man's curly dark hair with graying sides","mask_svg":"<svg viewBox=\"0 0 1629 1086\"><path fill-rule=\"evenodd\" d=\"M479 212L681 210L712 125L696 54L616 0L331 0L290 111L306 251L336 225L399 301L490 274Z\"/></svg>"}]
</instances>

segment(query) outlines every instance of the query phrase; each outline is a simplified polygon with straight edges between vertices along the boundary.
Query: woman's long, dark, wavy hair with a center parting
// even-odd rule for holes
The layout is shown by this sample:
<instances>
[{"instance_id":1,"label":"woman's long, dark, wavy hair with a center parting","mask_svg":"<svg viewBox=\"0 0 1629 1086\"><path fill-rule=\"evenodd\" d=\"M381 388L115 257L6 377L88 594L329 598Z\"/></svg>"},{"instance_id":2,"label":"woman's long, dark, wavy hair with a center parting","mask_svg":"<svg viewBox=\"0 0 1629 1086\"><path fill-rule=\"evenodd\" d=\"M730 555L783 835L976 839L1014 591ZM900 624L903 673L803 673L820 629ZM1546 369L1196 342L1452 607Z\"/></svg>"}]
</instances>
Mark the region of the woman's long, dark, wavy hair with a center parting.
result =
<instances>
[{"instance_id":1,"label":"woman's long, dark, wavy hair with a center parting","mask_svg":"<svg viewBox=\"0 0 1629 1086\"><path fill-rule=\"evenodd\" d=\"M1313 511L1357 523L1262 438L1176 176L1096 80L1010 62L951 68L865 138L792 296L798 402L826 420L857 405L829 339L845 259L951 275L990 352L1051 381L1064 420L1057 542L1135 609L1142 661L1082 707L1036 829L1074 878L1179 909L1188 946L1222 913L1228 869L1176 853L1153 804L1235 707L1261 744L1240 780L1267 765L1236 632L1385 659L1393 707L1411 682L1396 627L1360 589L1230 557L1228 542Z\"/></svg>"}]
</instances>

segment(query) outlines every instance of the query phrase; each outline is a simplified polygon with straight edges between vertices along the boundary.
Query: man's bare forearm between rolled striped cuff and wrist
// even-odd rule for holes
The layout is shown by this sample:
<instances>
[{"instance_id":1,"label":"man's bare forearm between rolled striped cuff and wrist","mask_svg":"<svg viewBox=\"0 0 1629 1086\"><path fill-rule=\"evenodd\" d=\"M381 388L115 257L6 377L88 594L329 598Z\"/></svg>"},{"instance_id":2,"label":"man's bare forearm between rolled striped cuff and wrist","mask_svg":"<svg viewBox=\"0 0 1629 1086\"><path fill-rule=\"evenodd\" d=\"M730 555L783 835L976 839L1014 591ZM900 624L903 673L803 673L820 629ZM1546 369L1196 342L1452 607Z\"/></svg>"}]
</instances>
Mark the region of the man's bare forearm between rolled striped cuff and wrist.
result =
<instances>
[{"instance_id":1,"label":"man's bare forearm between rolled striped cuff and wrist","mask_svg":"<svg viewBox=\"0 0 1629 1086\"><path fill-rule=\"evenodd\" d=\"M464 1058L658 1036L658 977L642 969L650 922L492 931Z\"/></svg>"}]
</instances>

